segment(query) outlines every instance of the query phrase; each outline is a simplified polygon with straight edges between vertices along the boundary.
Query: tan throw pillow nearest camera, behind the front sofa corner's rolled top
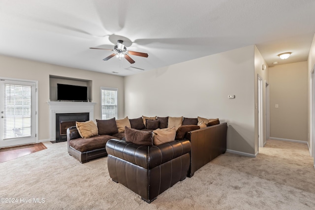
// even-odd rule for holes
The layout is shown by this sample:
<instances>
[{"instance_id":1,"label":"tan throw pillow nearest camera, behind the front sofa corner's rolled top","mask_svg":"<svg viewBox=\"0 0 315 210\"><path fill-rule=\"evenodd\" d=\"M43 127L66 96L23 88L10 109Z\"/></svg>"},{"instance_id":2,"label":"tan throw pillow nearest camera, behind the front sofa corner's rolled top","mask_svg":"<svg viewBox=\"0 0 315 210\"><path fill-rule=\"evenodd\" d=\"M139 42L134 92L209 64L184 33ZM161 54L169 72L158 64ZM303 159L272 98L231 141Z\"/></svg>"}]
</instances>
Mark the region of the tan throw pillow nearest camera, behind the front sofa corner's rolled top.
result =
<instances>
[{"instance_id":1,"label":"tan throw pillow nearest camera, behind the front sofa corner's rolled top","mask_svg":"<svg viewBox=\"0 0 315 210\"><path fill-rule=\"evenodd\" d=\"M153 131L153 143L154 145L161 145L167 142L172 142L175 140L176 129L175 126L156 129Z\"/></svg>"}]
</instances>

